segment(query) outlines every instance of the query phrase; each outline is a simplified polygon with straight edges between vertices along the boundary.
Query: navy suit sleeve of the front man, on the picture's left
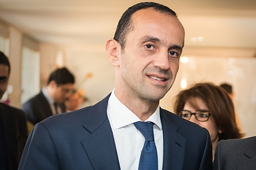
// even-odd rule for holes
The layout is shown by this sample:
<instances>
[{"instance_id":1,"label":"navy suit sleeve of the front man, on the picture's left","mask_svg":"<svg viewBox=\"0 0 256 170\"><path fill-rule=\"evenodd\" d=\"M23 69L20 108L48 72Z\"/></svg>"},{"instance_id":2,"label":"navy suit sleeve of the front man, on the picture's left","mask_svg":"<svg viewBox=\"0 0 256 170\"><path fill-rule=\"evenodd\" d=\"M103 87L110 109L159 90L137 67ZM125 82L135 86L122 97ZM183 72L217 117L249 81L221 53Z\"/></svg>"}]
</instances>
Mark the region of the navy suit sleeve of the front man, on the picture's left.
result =
<instances>
[{"instance_id":1,"label":"navy suit sleeve of the front man, on the picture's left","mask_svg":"<svg viewBox=\"0 0 256 170\"><path fill-rule=\"evenodd\" d=\"M43 123L37 123L28 137L18 170L60 170L52 137Z\"/></svg>"}]
</instances>

